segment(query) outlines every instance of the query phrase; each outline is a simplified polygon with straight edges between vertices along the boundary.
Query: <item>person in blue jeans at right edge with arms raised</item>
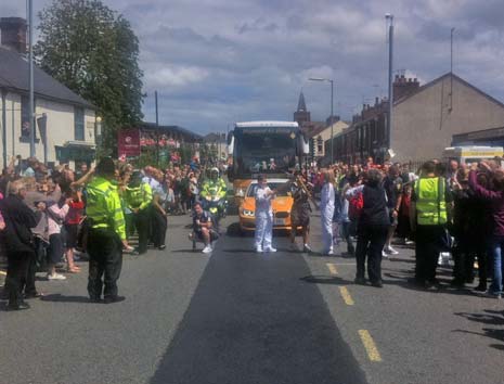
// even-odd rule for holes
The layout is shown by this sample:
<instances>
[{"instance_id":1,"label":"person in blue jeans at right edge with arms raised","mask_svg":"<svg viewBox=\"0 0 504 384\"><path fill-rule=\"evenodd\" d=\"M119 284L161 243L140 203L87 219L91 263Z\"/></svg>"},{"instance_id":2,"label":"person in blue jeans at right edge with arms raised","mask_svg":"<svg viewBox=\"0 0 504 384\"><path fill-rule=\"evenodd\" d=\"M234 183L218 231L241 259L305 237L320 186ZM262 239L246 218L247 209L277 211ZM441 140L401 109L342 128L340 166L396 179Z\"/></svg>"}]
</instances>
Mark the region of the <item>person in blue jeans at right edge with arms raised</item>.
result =
<instances>
[{"instance_id":1,"label":"person in blue jeans at right edge with arms raised","mask_svg":"<svg viewBox=\"0 0 504 384\"><path fill-rule=\"evenodd\" d=\"M492 181L492 190L482 187L478 182L477 171L487 172ZM500 298L502 295L503 263L502 253L504 248L504 171L492 169L486 162L474 163L470 166L469 187L476 195L489 203L492 231L489 238L489 252L493 263L492 284L487 291L491 297Z\"/></svg>"}]
</instances>

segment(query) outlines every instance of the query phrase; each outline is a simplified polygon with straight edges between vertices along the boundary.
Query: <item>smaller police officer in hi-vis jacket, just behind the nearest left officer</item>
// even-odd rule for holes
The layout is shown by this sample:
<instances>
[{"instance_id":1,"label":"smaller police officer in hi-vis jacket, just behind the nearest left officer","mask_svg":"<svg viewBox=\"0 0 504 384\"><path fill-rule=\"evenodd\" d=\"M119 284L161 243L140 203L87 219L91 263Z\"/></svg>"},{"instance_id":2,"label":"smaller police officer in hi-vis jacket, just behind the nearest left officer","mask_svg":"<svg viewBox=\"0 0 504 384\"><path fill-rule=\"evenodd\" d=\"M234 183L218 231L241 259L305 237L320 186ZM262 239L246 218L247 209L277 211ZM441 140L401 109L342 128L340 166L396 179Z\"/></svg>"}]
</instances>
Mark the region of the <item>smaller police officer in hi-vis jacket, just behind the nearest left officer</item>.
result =
<instances>
[{"instance_id":1,"label":"smaller police officer in hi-vis jacket, just behind the nearest left officer","mask_svg":"<svg viewBox=\"0 0 504 384\"><path fill-rule=\"evenodd\" d=\"M137 251L140 255L147 252L152 199L151 185L142 181L140 171L134 171L126 188L126 205L133 213L134 227L137 227L139 233L139 247Z\"/></svg>"}]
</instances>

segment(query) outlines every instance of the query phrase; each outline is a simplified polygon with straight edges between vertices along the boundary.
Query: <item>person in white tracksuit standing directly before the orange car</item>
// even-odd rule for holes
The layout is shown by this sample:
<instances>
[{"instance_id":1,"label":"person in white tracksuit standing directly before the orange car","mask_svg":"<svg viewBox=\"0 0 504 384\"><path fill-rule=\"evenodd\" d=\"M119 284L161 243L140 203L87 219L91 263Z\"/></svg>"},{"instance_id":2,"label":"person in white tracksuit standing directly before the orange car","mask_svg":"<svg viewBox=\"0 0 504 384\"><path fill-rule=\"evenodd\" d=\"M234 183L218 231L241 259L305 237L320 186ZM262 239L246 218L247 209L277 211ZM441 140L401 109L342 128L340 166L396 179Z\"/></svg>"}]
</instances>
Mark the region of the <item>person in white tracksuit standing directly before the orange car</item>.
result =
<instances>
[{"instance_id":1,"label":"person in white tracksuit standing directly before the orange car","mask_svg":"<svg viewBox=\"0 0 504 384\"><path fill-rule=\"evenodd\" d=\"M275 191L268 187L266 177L260 175L257 178L256 197L256 252L276 252L271 246L273 238L273 209L271 201L274 199Z\"/></svg>"}]
</instances>

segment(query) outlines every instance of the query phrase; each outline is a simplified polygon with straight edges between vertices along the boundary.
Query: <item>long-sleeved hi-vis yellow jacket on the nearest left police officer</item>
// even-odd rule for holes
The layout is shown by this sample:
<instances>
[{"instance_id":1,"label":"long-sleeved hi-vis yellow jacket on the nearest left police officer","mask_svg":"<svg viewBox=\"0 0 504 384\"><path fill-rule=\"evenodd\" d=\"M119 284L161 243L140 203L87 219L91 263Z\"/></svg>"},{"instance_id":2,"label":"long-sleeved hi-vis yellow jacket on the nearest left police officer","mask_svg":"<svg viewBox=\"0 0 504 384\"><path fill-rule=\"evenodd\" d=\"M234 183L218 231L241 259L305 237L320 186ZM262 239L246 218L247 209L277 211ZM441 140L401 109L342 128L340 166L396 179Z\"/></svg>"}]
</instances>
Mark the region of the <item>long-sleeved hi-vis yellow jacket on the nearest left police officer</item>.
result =
<instances>
[{"instance_id":1,"label":"long-sleeved hi-vis yellow jacket on the nearest left police officer","mask_svg":"<svg viewBox=\"0 0 504 384\"><path fill-rule=\"evenodd\" d=\"M126 239L125 216L117 187L104 178L96 177L86 190L86 214L91 219L91 227L112 229L121 240Z\"/></svg>"}]
</instances>

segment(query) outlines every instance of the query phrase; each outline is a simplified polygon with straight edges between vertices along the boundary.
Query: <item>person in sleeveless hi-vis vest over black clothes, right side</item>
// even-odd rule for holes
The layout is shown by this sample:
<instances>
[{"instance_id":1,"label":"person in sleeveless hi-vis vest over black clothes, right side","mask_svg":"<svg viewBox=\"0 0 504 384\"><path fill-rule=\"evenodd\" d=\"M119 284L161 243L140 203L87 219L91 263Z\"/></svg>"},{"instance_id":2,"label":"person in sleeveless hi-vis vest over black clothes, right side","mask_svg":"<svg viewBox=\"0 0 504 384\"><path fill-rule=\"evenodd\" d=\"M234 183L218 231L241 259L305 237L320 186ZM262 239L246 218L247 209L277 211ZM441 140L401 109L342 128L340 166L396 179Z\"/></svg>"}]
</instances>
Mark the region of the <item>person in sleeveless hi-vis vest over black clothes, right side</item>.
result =
<instances>
[{"instance_id":1,"label":"person in sleeveless hi-vis vest over black clothes, right side","mask_svg":"<svg viewBox=\"0 0 504 384\"><path fill-rule=\"evenodd\" d=\"M436 164L426 162L416 180L411 197L411 227L416 230L415 281L424 287L437 285L436 267L439 253L445 246L449 206L449 185L436 175Z\"/></svg>"}]
</instances>

